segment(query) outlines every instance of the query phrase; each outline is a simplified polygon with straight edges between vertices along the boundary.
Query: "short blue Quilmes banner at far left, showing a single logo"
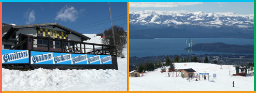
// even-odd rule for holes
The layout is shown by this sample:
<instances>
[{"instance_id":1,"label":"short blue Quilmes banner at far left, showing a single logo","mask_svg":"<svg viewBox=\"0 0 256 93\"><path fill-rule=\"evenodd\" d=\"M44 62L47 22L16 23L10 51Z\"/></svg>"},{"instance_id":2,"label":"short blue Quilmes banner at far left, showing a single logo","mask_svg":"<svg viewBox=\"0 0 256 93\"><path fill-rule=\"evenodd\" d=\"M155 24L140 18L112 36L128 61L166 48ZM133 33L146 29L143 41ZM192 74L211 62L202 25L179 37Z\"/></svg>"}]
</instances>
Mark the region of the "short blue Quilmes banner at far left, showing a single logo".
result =
<instances>
[{"instance_id":1,"label":"short blue Quilmes banner at far left, showing a single logo","mask_svg":"<svg viewBox=\"0 0 256 93\"><path fill-rule=\"evenodd\" d=\"M2 64L28 64L29 51L2 50Z\"/></svg>"}]
</instances>

